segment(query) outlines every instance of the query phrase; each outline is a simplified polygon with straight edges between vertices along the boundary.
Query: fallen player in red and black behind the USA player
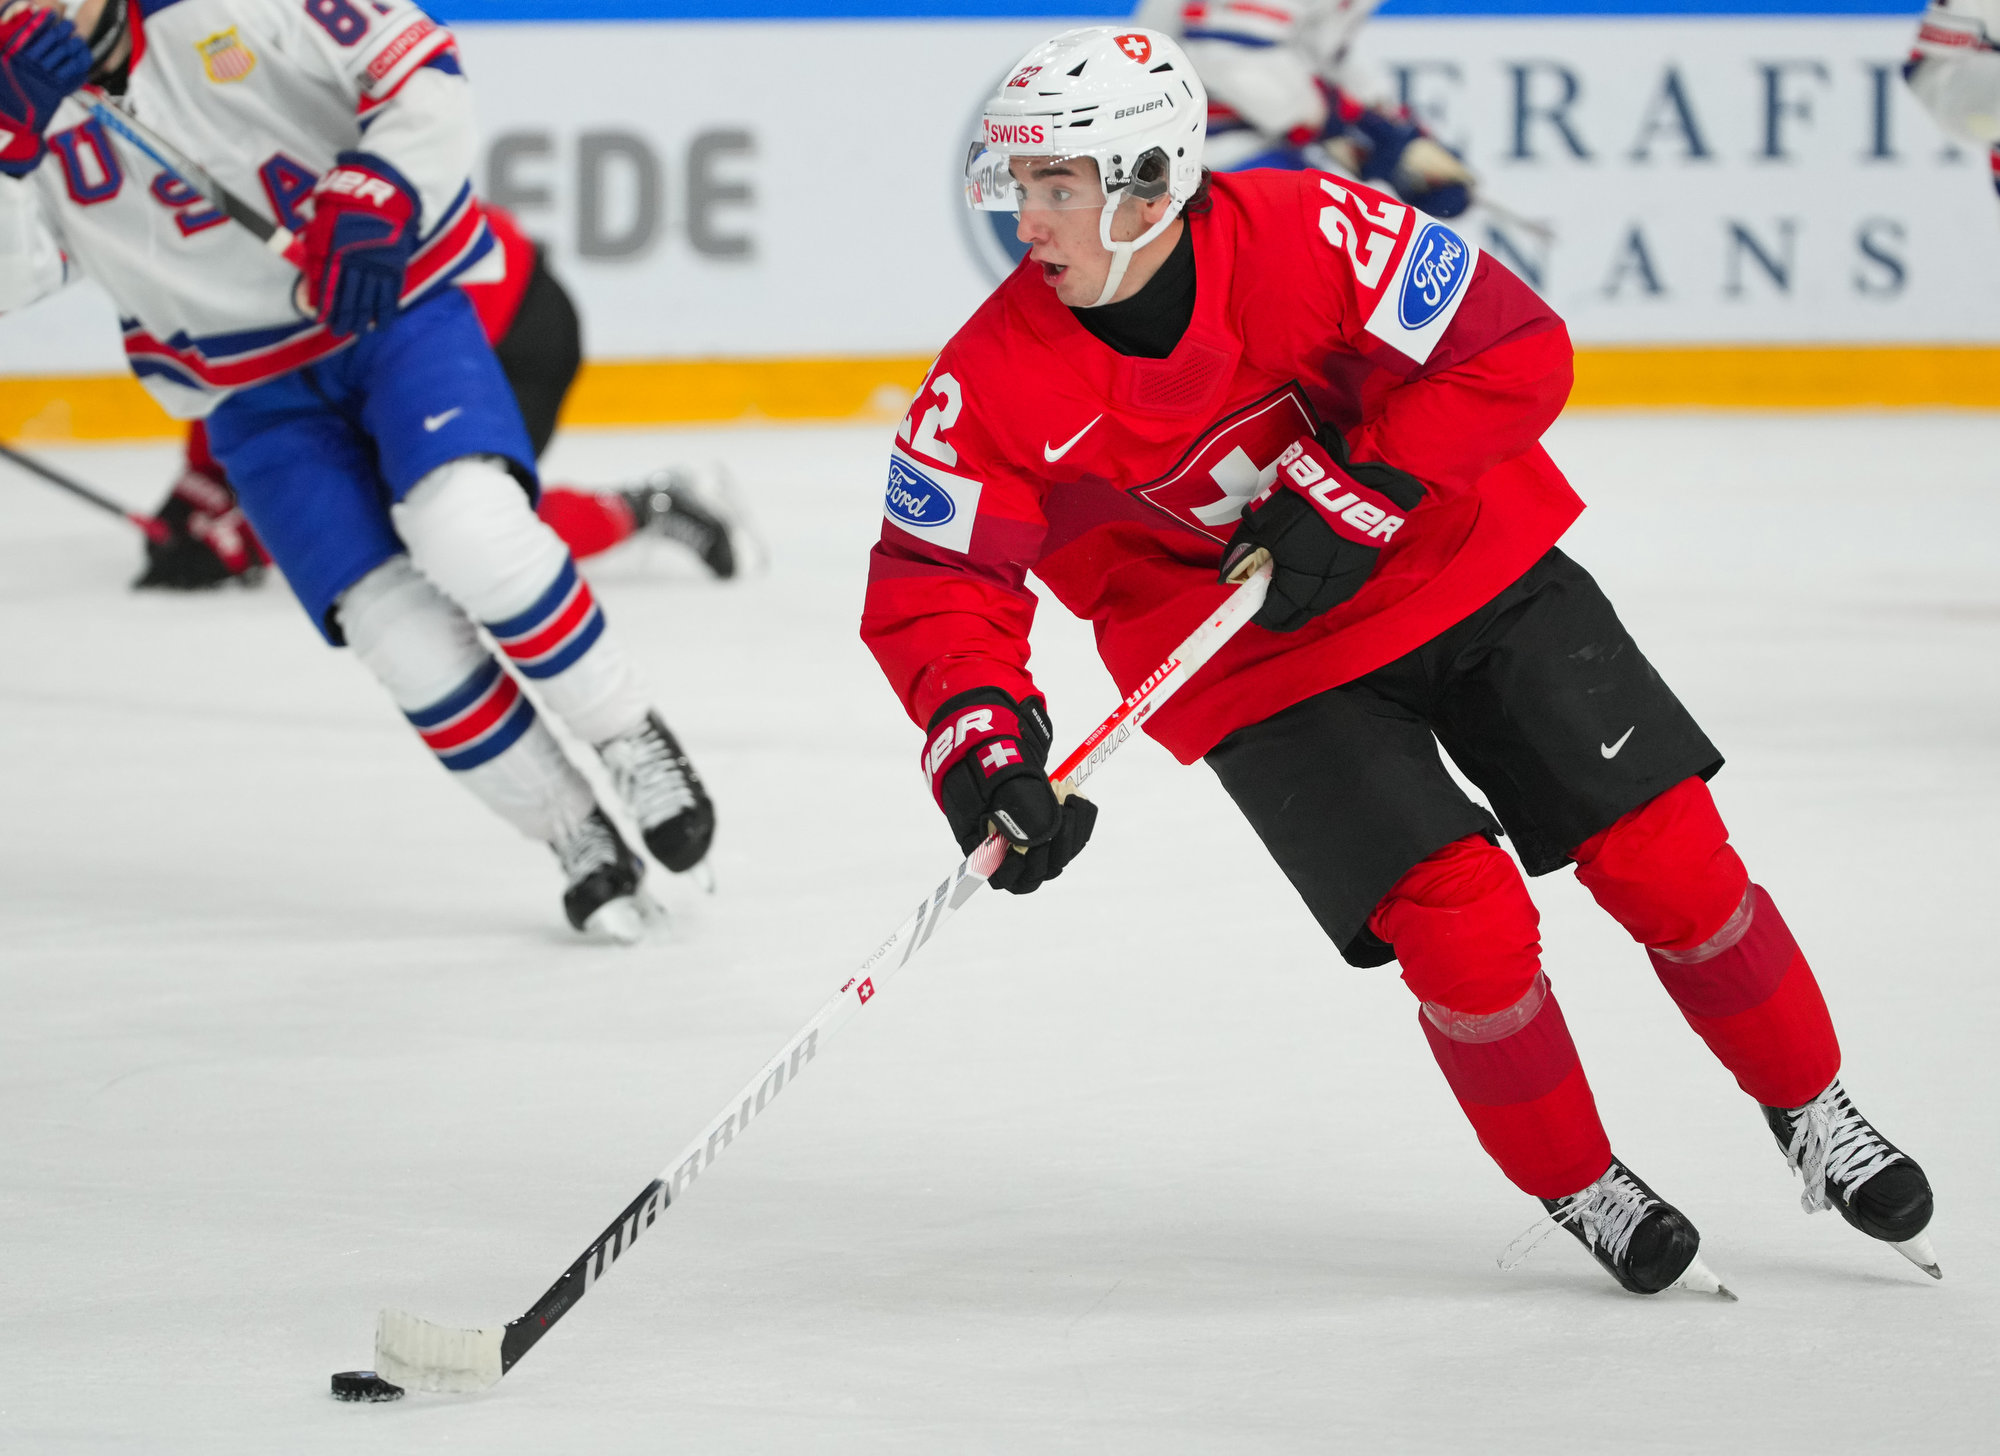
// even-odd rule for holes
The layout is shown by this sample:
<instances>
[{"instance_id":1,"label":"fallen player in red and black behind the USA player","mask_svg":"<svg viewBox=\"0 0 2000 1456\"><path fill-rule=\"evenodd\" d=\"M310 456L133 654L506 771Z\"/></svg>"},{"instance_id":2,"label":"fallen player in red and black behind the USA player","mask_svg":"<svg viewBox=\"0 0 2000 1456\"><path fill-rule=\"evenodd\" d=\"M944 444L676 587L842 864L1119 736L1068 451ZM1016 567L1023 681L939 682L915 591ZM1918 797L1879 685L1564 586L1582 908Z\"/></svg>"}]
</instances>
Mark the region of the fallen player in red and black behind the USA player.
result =
<instances>
[{"instance_id":1,"label":"fallen player in red and black behind the USA player","mask_svg":"<svg viewBox=\"0 0 2000 1456\"><path fill-rule=\"evenodd\" d=\"M460 288L480 316L486 342L494 346L528 426L528 442L540 456L584 360L582 330L570 294L514 218L486 204L486 228L498 244L494 252L502 274L460 282ZM542 486L534 508L578 560L650 532L678 540L702 566L728 580L736 574L736 542L712 492L704 492L700 474L690 466L670 466L626 490ZM134 586L184 592L230 580L252 582L270 562L236 504L228 472L208 448L208 430L200 420L188 426L180 476L154 518L166 534L146 538L146 570Z\"/></svg>"}]
</instances>

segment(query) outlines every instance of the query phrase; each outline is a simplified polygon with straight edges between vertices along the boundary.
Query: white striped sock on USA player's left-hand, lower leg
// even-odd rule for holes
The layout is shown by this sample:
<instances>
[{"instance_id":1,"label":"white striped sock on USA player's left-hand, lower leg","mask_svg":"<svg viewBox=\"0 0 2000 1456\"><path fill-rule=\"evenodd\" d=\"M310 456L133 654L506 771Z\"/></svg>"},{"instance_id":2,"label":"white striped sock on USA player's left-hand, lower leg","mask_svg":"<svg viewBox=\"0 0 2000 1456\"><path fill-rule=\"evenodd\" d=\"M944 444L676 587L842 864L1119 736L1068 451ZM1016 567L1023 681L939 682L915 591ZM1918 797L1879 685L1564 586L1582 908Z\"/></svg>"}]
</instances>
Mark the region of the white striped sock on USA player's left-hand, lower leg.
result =
<instances>
[{"instance_id":1,"label":"white striped sock on USA player's left-hand, lower leg","mask_svg":"<svg viewBox=\"0 0 2000 1456\"><path fill-rule=\"evenodd\" d=\"M438 762L522 834L554 842L596 808L520 684L408 556L348 588L340 630Z\"/></svg>"}]
</instances>

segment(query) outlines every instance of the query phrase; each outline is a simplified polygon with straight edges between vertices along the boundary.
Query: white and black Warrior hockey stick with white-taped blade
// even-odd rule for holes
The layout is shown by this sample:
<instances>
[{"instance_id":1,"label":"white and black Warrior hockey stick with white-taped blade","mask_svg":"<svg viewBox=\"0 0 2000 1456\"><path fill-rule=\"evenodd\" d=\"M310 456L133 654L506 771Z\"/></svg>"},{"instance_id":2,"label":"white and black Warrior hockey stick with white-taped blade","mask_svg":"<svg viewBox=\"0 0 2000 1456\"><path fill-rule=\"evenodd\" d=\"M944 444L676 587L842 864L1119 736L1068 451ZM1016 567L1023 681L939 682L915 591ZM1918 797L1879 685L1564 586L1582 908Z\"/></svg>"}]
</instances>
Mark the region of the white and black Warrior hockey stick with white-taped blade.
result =
<instances>
[{"instance_id":1,"label":"white and black Warrior hockey stick with white-taped blade","mask_svg":"<svg viewBox=\"0 0 2000 1456\"><path fill-rule=\"evenodd\" d=\"M1140 724L1158 712L1224 642L1256 616L1270 590L1270 558L1264 552L1252 554L1234 580L1242 584L1230 592L1222 606L1174 648L1174 654L1050 774L1058 794L1082 786ZM910 964L910 958L930 942L938 926L978 894L1006 852L1008 842L994 834L966 856L518 1320L484 1330L454 1330L418 1320L402 1310L382 1310L376 1324L376 1372L380 1378L418 1390L466 1392L496 1384L534 1348L536 1340L548 1334L556 1320L568 1314L610 1272L612 1264L644 1230L652 1228L660 1214L686 1196L688 1186L714 1166L744 1128L762 1116L788 1084L798 1080L800 1072L820 1054L820 1042L874 1000L882 982ZM390 1392L380 1392L376 1398L382 1396L394 1398Z\"/></svg>"}]
</instances>

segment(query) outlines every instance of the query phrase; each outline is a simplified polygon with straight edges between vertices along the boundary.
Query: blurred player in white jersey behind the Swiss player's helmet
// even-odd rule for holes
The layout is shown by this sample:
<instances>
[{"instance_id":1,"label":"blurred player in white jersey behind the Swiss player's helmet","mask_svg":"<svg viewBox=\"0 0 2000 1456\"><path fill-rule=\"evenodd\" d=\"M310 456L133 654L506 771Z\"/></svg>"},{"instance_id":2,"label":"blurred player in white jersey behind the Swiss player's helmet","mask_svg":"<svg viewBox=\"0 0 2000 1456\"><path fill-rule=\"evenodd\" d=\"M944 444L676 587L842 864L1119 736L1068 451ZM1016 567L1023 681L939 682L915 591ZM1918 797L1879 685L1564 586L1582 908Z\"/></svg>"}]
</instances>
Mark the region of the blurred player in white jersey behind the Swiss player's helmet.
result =
<instances>
[{"instance_id":1,"label":"blurred player in white jersey behind the Swiss player's helmet","mask_svg":"<svg viewBox=\"0 0 2000 1456\"><path fill-rule=\"evenodd\" d=\"M1382 0L1152 0L1208 88L1208 166L1332 166L1436 218L1472 204L1474 176L1354 60Z\"/></svg>"}]
</instances>

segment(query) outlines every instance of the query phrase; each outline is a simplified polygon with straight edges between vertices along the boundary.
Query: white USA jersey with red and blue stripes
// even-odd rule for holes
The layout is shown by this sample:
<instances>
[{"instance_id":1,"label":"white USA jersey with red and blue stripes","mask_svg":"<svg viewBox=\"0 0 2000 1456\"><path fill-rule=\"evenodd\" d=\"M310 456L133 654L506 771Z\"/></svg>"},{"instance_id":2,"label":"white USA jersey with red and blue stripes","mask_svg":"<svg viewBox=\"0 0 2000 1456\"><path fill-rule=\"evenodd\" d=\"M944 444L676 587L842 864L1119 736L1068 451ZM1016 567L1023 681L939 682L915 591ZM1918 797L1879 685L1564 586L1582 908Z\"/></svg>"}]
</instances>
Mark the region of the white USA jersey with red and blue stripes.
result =
<instances>
[{"instance_id":1,"label":"white USA jersey with red and blue stripes","mask_svg":"<svg viewBox=\"0 0 2000 1456\"><path fill-rule=\"evenodd\" d=\"M144 34L132 108L286 228L304 224L324 172L334 188L386 188L336 170L340 152L372 152L422 202L406 302L492 254L460 160L472 124L452 32L410 0L176 0L146 8ZM300 106L306 94L348 110ZM410 124L382 124L390 114ZM228 148L204 144L218 132ZM288 262L114 140L86 98L64 102L48 142L28 186L0 190L0 240L26 240L0 246L0 298L20 306L60 288L72 272L60 260L74 260L118 302L132 372L176 416L344 346L292 306Z\"/></svg>"}]
</instances>

